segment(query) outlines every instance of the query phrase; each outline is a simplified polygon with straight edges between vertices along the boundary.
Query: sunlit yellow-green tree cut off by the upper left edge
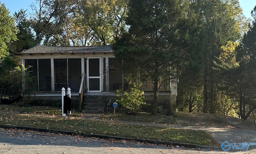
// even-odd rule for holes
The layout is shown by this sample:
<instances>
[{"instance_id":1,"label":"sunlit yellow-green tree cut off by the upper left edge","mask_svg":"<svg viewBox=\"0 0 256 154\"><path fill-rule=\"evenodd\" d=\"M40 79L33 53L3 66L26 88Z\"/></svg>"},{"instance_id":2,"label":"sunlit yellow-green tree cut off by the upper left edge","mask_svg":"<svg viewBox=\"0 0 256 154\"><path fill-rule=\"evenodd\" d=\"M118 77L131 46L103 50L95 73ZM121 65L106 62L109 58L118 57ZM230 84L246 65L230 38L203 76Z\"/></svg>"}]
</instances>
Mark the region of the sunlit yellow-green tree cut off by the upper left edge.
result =
<instances>
[{"instance_id":1,"label":"sunlit yellow-green tree cut off by the upper left edge","mask_svg":"<svg viewBox=\"0 0 256 154\"><path fill-rule=\"evenodd\" d=\"M7 45L16 40L16 33L14 18L9 15L9 11L4 4L0 3L0 62L2 58L9 54Z\"/></svg>"}]
</instances>

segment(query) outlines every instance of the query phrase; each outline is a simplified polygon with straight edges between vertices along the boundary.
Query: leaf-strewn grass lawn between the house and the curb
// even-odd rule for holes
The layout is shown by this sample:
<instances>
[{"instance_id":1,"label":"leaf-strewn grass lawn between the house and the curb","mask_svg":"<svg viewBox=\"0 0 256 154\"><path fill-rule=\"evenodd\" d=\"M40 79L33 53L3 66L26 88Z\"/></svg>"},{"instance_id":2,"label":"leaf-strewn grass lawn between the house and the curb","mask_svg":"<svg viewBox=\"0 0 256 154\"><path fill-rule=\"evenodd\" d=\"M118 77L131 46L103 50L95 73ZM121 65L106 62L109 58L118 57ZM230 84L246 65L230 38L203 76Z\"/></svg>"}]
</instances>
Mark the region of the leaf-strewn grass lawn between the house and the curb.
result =
<instances>
[{"instance_id":1,"label":"leaf-strewn grass lawn between the house and the curb","mask_svg":"<svg viewBox=\"0 0 256 154\"><path fill-rule=\"evenodd\" d=\"M175 124L174 117L141 113L139 116L126 114L99 115L99 120L86 119L86 114L75 112L70 120L63 120L60 108L46 106L20 107L18 105L0 104L0 124L65 130L76 133L89 133L121 136L139 139L163 140L172 142L216 145L212 136L199 130L184 130L143 124L126 124L109 120L145 122L158 124ZM67 118L66 118L67 119Z\"/></svg>"}]
</instances>

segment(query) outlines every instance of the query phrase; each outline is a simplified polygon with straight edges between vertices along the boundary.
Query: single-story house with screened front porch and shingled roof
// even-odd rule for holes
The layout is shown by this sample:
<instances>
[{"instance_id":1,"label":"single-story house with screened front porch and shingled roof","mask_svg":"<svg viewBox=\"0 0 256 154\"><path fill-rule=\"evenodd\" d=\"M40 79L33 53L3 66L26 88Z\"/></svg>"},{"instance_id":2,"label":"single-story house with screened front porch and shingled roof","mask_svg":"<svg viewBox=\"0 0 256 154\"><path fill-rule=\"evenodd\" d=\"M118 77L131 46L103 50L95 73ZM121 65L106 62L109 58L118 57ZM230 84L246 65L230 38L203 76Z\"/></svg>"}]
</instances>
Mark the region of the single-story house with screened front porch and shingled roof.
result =
<instances>
[{"instance_id":1,"label":"single-story house with screened front porch and shingled roof","mask_svg":"<svg viewBox=\"0 0 256 154\"><path fill-rule=\"evenodd\" d=\"M72 99L79 100L83 96L88 99L82 101L84 110L102 111L106 104L111 102L110 98L115 96L115 90L128 89L122 65L115 58L111 46L37 45L19 55L25 67L32 66L31 75L36 77L37 89L33 92L34 99L61 99L62 88L69 87ZM145 92L145 102L152 102L152 82L144 80L142 90ZM158 95L159 106L175 110L176 94L176 83L166 81ZM100 96L100 99L97 96ZM102 100L102 108L89 107L90 102L96 102L90 100L93 98Z\"/></svg>"}]
</instances>

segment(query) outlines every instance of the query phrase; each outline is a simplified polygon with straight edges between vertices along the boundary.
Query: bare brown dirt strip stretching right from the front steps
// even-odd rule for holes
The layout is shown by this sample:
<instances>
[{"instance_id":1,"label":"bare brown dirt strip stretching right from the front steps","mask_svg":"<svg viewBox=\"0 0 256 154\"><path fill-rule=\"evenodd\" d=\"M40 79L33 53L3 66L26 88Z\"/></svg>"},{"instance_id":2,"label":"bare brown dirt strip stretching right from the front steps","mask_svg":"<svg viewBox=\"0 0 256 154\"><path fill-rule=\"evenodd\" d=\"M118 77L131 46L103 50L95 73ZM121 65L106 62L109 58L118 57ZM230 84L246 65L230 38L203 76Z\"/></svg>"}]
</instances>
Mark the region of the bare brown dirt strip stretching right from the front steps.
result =
<instances>
[{"instance_id":1,"label":"bare brown dirt strip stretching right from the front steps","mask_svg":"<svg viewBox=\"0 0 256 154\"><path fill-rule=\"evenodd\" d=\"M256 130L256 123L238 118L206 114L206 113L184 113L179 112L176 117L165 115L151 115L150 113L140 113L138 115L126 114L102 114L98 116L101 120L126 121L137 123L166 124L177 126L195 127L216 127L216 128L237 128Z\"/></svg>"}]
</instances>

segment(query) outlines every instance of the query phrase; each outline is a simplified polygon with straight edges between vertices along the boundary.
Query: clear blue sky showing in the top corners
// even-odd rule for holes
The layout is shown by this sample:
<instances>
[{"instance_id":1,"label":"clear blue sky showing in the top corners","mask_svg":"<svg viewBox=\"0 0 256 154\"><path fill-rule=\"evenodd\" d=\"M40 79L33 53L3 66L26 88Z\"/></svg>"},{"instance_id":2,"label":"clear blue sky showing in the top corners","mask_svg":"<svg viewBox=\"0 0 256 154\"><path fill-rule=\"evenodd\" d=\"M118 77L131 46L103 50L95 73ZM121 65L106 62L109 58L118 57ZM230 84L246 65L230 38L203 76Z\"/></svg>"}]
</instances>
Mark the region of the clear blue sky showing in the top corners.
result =
<instances>
[{"instance_id":1,"label":"clear blue sky showing in the top corners","mask_svg":"<svg viewBox=\"0 0 256 154\"><path fill-rule=\"evenodd\" d=\"M256 0L238 0L240 2L240 6L243 9L243 13L247 18L251 18L251 11L256 5ZM10 11L10 14L14 14L14 12L18 12L20 9L28 10L27 12L32 12L30 5L35 0L0 0L1 3L4 3L6 8Z\"/></svg>"}]
</instances>

